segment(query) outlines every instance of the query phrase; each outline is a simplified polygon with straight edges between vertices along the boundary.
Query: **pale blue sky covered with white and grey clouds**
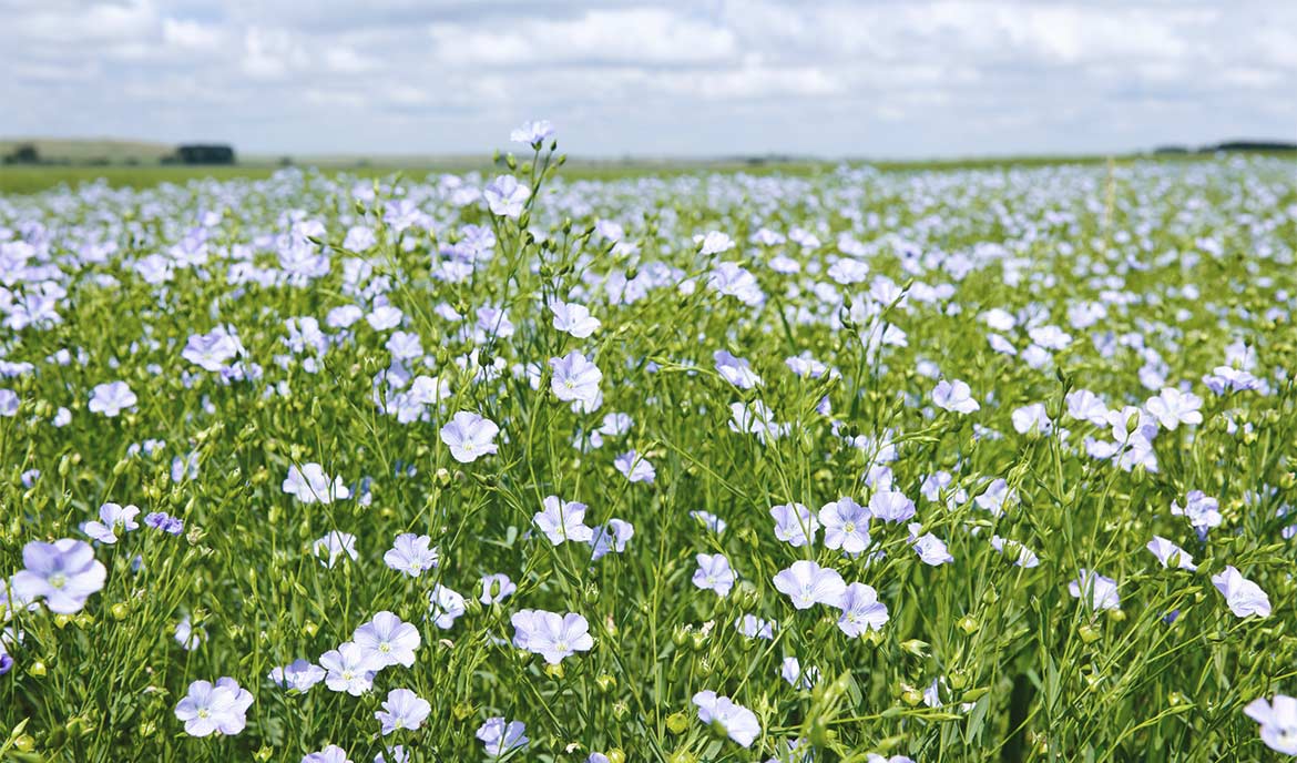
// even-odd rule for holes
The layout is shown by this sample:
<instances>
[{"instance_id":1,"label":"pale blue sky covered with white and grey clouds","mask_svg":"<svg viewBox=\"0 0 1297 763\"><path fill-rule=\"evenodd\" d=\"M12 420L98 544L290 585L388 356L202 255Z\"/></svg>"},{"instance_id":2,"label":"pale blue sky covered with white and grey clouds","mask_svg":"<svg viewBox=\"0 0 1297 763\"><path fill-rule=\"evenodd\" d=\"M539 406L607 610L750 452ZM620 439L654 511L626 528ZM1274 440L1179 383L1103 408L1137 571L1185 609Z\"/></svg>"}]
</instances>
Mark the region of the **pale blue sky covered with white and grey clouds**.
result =
<instances>
[{"instance_id":1,"label":"pale blue sky covered with white and grey clouds","mask_svg":"<svg viewBox=\"0 0 1297 763\"><path fill-rule=\"evenodd\" d=\"M1100 153L1294 139L1294 93L1292 0L0 0L0 136Z\"/></svg>"}]
</instances>

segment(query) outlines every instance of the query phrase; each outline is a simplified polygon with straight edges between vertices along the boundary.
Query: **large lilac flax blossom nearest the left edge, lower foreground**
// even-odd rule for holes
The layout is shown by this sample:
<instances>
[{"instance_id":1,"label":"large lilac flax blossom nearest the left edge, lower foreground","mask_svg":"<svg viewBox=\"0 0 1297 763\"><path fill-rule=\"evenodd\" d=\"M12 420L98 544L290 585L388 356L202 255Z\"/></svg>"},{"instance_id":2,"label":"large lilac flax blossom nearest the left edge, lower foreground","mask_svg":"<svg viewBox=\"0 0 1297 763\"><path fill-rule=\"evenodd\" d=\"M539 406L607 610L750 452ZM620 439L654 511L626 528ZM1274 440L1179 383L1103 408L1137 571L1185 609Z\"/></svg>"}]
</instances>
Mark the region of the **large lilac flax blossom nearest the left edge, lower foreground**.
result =
<instances>
[{"instance_id":1,"label":"large lilac flax blossom nearest the left edge, lower foreground","mask_svg":"<svg viewBox=\"0 0 1297 763\"><path fill-rule=\"evenodd\" d=\"M62 539L22 546L25 568L13 576L13 596L22 601L45 600L49 611L70 615L104 588L108 568L86 541Z\"/></svg>"}]
</instances>

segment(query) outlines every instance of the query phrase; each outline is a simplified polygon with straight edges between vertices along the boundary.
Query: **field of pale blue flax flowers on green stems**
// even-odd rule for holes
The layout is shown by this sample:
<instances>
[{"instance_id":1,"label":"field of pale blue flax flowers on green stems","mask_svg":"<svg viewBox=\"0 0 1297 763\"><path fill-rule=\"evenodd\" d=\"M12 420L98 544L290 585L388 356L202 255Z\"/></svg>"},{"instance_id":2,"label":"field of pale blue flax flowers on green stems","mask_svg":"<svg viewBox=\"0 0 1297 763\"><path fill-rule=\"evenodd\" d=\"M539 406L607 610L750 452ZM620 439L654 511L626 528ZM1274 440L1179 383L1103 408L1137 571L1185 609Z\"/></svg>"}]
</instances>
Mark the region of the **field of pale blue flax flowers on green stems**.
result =
<instances>
[{"instance_id":1,"label":"field of pale blue flax flowers on green stems","mask_svg":"<svg viewBox=\"0 0 1297 763\"><path fill-rule=\"evenodd\" d=\"M0 199L0 751L1297 755L1291 162L511 138Z\"/></svg>"}]
</instances>

